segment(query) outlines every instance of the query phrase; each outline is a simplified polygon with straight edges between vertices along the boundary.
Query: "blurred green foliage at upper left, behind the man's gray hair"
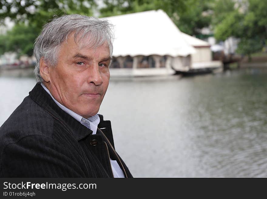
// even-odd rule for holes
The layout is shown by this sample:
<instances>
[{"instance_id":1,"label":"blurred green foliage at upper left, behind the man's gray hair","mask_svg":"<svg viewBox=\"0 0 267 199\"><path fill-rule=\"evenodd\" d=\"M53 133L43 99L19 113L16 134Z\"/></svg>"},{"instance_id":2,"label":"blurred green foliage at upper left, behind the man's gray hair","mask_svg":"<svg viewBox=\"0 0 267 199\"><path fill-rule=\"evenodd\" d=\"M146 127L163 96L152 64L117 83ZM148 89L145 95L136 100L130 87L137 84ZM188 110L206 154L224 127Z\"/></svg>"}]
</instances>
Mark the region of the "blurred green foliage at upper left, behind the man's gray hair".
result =
<instances>
[{"instance_id":1,"label":"blurred green foliage at upper left, behind the man's gray hair","mask_svg":"<svg viewBox=\"0 0 267 199\"><path fill-rule=\"evenodd\" d=\"M0 55L14 51L18 55L32 55L35 38L42 26L55 15L92 15L94 0L0 0L0 23L10 17L16 25L6 35L0 35ZM25 25L29 24L29 25Z\"/></svg>"}]
</instances>

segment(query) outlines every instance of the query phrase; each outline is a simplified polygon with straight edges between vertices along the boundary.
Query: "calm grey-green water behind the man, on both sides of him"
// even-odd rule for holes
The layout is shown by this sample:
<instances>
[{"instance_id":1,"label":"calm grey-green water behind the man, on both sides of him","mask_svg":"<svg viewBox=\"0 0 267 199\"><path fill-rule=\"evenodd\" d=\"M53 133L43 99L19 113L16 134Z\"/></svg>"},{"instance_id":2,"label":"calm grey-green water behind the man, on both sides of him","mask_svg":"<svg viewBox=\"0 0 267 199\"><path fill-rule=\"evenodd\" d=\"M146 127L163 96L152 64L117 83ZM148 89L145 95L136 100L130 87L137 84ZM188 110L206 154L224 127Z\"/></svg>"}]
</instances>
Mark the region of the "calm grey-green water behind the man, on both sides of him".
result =
<instances>
[{"instance_id":1,"label":"calm grey-green water behind the man, on both sides of him","mask_svg":"<svg viewBox=\"0 0 267 199\"><path fill-rule=\"evenodd\" d=\"M266 77L111 80L100 113L134 177L267 177ZM34 85L0 77L0 125Z\"/></svg>"}]
</instances>

